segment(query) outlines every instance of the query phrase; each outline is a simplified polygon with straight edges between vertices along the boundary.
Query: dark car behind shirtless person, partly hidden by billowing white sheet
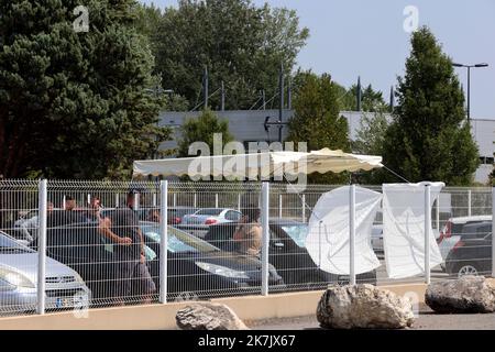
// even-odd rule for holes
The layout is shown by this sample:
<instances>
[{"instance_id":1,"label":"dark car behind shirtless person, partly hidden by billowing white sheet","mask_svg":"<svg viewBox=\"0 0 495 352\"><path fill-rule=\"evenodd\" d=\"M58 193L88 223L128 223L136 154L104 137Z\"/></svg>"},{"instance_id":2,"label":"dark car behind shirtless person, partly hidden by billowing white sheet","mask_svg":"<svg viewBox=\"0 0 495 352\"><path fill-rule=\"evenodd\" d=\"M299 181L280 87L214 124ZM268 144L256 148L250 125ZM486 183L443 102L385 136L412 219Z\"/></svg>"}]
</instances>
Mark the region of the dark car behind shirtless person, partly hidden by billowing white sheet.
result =
<instances>
[{"instance_id":1,"label":"dark car behind shirtless person, partly hidden by billowing white sheet","mask_svg":"<svg viewBox=\"0 0 495 352\"><path fill-rule=\"evenodd\" d=\"M210 227L205 240L229 252L235 251L232 235L238 223ZM345 284L348 275L329 274L318 268L305 248L308 226L288 219L270 219L268 262L293 288L321 288L328 283ZM356 275L358 283L376 284L375 271Z\"/></svg>"}]
</instances>

